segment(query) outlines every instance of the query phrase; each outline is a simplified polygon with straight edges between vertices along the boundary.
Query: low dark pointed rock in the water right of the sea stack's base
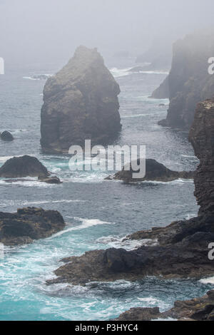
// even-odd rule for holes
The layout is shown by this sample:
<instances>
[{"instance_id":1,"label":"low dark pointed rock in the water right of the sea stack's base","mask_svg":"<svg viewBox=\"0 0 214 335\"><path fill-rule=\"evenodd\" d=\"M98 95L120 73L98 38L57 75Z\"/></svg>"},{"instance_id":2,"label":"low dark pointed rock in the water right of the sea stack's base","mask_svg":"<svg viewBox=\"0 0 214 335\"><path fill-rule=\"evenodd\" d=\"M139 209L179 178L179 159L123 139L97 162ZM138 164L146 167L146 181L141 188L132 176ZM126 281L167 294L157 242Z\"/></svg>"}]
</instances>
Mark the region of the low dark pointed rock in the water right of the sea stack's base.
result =
<instances>
[{"instance_id":1,"label":"low dark pointed rock in the water right of the sea stack's base","mask_svg":"<svg viewBox=\"0 0 214 335\"><path fill-rule=\"evenodd\" d=\"M140 160L138 159L138 165L140 164ZM194 172L177 172L172 171L166 168L163 164L158 163L156 160L146 159L146 176L141 179L133 179L133 173L136 171L133 171L131 168L131 165L129 166L129 170L126 171L125 168L123 168L122 171L119 171L116 173L116 175L113 175L113 177L107 177L106 180L123 180L124 182L141 182L145 180L156 180L161 182L171 182L172 180L176 180L179 178L182 179L193 179Z\"/></svg>"}]
</instances>

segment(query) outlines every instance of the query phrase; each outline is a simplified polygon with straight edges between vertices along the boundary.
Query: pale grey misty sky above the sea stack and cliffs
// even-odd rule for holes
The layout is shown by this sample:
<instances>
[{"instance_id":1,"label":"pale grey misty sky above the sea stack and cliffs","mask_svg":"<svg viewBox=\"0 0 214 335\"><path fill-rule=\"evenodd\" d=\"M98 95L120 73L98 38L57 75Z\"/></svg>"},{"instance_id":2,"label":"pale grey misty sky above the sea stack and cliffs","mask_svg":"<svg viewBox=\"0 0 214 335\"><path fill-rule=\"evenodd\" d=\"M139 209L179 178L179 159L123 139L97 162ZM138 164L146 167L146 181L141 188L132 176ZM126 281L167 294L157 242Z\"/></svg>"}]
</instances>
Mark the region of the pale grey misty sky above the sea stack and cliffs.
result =
<instances>
[{"instance_id":1,"label":"pale grey misty sky above the sea stack and cliffs","mask_svg":"<svg viewBox=\"0 0 214 335\"><path fill-rule=\"evenodd\" d=\"M0 56L32 63L68 59L80 45L144 51L213 26L213 0L0 0Z\"/></svg>"}]
</instances>

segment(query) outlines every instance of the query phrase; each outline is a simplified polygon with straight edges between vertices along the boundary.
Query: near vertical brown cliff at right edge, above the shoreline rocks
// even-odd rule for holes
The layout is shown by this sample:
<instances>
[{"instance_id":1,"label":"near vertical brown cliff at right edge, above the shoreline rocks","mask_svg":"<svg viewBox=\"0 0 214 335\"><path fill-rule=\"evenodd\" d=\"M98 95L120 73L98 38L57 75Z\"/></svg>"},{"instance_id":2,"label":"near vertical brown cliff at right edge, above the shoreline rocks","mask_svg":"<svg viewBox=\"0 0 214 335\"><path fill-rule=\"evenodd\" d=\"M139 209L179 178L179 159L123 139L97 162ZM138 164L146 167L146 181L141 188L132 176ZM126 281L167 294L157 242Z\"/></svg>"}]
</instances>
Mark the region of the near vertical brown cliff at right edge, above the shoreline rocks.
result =
<instances>
[{"instance_id":1,"label":"near vertical brown cliff at right edge, above the shoreline rocks","mask_svg":"<svg viewBox=\"0 0 214 335\"><path fill-rule=\"evenodd\" d=\"M195 173L199 214L214 214L214 99L198 103L189 138L200 159Z\"/></svg>"}]
</instances>

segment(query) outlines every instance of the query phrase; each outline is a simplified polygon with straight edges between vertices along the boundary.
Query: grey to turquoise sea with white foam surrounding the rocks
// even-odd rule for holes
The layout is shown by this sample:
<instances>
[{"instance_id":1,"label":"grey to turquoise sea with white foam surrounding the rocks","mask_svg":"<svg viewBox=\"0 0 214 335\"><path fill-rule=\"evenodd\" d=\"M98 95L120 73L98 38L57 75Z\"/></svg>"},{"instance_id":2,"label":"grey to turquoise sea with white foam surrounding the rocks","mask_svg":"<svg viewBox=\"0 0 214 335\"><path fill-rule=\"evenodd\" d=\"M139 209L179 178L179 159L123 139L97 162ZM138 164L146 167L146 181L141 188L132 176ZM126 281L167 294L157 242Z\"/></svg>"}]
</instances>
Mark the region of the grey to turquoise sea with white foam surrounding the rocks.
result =
<instances>
[{"instance_id":1,"label":"grey to turquoise sea with white foam surrounding the rocks","mask_svg":"<svg viewBox=\"0 0 214 335\"><path fill-rule=\"evenodd\" d=\"M127 68L113 69L121 86L123 124L116 144L146 144L147 158L155 158L175 170L195 168L198 161L186 134L157 125L167 111L167 105L158 105L167 104L168 100L148 98L165 73L131 75ZM44 68L44 72L49 73L49 69ZM13 183L0 180L0 208L4 212L24 206L58 210L66 228L31 245L1 247L0 319L107 320L133 306L160 306L165 310L175 300L198 297L213 288L212 281L156 278L86 287L46 286L46 279L54 277L54 269L61 265L63 257L108 247L134 249L143 242L123 243L127 234L193 217L198 207L191 180L124 185L104 181L107 172L71 172L66 156L43 155L39 125L44 81L23 78L31 74L23 70L1 76L0 128L11 130L15 140L0 142L0 165L14 155L35 155L63 184L46 185L34 178Z\"/></svg>"}]
</instances>

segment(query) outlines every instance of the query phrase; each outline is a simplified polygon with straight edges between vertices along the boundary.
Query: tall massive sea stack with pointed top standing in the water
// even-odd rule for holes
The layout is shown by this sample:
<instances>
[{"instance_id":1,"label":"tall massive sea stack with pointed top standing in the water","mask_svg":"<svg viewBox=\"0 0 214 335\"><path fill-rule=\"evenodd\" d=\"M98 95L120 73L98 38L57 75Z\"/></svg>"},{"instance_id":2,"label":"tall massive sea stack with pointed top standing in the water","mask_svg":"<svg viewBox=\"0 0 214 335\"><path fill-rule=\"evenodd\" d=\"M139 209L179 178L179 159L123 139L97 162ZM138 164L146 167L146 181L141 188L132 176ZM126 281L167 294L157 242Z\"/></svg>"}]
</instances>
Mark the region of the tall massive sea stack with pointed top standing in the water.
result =
<instances>
[{"instance_id":1,"label":"tall massive sea stack with pointed top standing in the water","mask_svg":"<svg viewBox=\"0 0 214 335\"><path fill-rule=\"evenodd\" d=\"M96 49L77 48L46 82L41 109L41 148L68 153L71 145L106 144L121 130L120 88Z\"/></svg>"}]
</instances>

